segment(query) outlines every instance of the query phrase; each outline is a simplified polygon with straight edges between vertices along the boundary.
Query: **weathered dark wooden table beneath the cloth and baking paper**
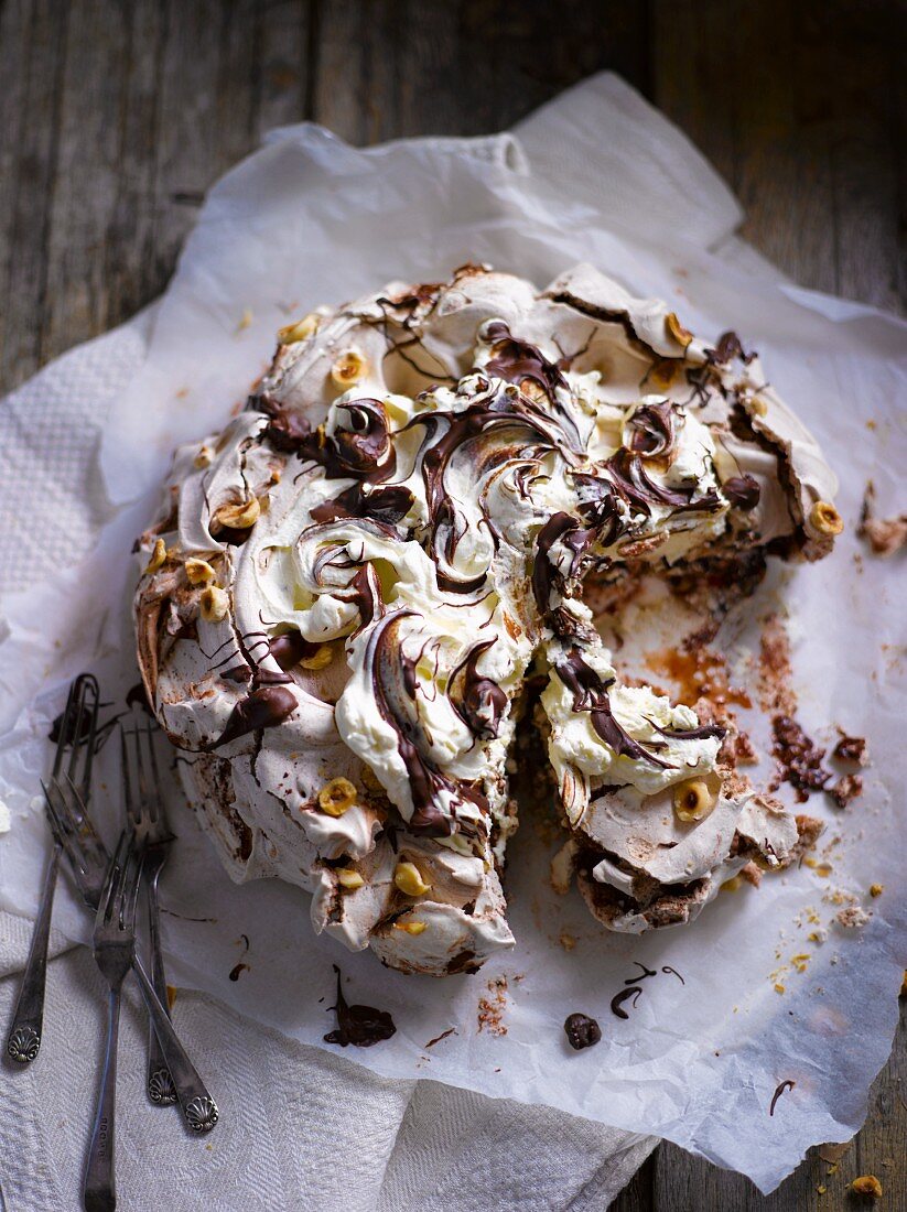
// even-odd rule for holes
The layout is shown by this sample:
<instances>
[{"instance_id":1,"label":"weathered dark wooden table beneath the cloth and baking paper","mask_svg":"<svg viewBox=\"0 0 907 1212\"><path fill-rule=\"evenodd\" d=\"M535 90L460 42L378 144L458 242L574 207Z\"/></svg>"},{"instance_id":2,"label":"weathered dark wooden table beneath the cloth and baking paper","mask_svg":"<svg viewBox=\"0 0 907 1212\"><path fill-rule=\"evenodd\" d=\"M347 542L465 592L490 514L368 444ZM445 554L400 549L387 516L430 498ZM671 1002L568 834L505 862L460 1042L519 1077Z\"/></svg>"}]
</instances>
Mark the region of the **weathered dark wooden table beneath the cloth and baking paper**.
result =
<instances>
[{"instance_id":1,"label":"weathered dark wooden table beneath the cloth and baking paper","mask_svg":"<svg viewBox=\"0 0 907 1212\"><path fill-rule=\"evenodd\" d=\"M475 135L600 68L691 136L793 279L907 310L897 0L0 0L0 390L159 295L269 127ZM907 1208L903 1019L834 1174L810 1157L763 1199L662 1144L614 1208L838 1212L867 1171Z\"/></svg>"}]
</instances>

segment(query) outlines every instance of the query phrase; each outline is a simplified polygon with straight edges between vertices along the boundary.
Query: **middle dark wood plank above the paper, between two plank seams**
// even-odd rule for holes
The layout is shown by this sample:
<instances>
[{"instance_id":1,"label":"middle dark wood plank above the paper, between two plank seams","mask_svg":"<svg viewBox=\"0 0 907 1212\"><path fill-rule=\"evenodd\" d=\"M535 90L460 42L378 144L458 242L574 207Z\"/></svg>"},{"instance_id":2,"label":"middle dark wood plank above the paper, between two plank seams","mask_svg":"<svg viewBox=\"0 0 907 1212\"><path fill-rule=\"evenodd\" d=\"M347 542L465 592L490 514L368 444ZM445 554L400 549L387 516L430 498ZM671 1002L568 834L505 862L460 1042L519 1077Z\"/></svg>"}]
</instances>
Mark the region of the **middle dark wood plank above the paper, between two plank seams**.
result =
<instances>
[{"instance_id":1,"label":"middle dark wood plank above the paper, between two plank seams","mask_svg":"<svg viewBox=\"0 0 907 1212\"><path fill-rule=\"evenodd\" d=\"M333 0L314 112L353 143L487 133L601 68L645 87L648 63L645 5Z\"/></svg>"}]
</instances>

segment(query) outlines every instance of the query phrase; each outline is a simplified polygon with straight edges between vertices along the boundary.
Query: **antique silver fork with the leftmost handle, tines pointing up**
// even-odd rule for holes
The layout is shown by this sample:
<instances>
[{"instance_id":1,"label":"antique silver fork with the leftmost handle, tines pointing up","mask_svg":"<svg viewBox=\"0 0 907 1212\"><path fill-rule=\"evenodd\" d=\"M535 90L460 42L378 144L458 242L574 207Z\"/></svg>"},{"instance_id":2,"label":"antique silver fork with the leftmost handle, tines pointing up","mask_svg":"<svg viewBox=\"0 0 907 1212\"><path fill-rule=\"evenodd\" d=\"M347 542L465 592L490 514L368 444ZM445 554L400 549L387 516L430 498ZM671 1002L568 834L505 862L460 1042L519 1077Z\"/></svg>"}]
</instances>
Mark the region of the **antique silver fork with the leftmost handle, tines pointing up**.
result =
<instances>
[{"instance_id":1,"label":"antique silver fork with the leftmost handle, tines pointing up","mask_svg":"<svg viewBox=\"0 0 907 1212\"><path fill-rule=\"evenodd\" d=\"M58 778L63 768L63 759L69 749L67 777L78 782L82 802L89 802L91 794L91 764L95 756L98 721L98 684L92 674L79 674L69 687L65 710L57 737L57 751L53 756L52 778ZM81 761L81 772L79 762ZM6 1037L6 1051L13 1060L28 1064L38 1056L41 1047L44 1029L44 996L47 984L47 944L51 933L51 915L53 913L53 893L57 887L59 857L62 850L53 844L53 852L44 877L41 904L32 932L32 945L22 974L19 996L13 1010L10 1033Z\"/></svg>"}]
</instances>

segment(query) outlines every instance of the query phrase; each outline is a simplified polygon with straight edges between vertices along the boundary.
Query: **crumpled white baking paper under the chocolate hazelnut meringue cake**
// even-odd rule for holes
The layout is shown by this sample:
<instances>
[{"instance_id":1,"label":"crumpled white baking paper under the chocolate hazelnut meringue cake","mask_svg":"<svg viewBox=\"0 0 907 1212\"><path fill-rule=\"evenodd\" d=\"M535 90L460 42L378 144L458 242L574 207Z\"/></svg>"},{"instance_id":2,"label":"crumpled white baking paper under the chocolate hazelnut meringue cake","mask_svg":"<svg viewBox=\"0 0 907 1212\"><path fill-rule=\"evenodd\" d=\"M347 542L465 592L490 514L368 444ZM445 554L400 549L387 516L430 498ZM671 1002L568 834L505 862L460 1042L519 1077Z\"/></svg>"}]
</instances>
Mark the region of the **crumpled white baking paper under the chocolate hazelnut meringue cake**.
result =
<instances>
[{"instance_id":1,"label":"crumpled white baking paper under the chocolate hazelnut meringue cake","mask_svg":"<svg viewBox=\"0 0 907 1212\"><path fill-rule=\"evenodd\" d=\"M597 110L606 99L624 108L620 145L599 142ZM846 1139L861 1125L890 1048L907 960L903 566L873 561L855 538L868 476L882 513L900 505L907 325L786 284L731 238L736 204L692 148L674 154L669 171L656 154L634 159L634 122L644 119L651 114L626 86L597 78L514 135L490 139L360 150L315 126L290 127L213 188L170 288L139 320L148 337L141 370L104 405L103 418L74 407L72 434L56 424L46 435L55 445L33 441L35 461L19 469L18 496L8 481L2 490L0 513L18 510L22 533L33 537L32 550L16 545L2 571L4 587L28 588L0 604L0 799L12 819L0 839L0 908L36 909L49 845L35 793L65 681L95 669L109 714L137 681L129 550L152 515L172 447L223 425L269 360L275 330L319 302L393 278L444 278L466 261L540 286L588 261L635 295L669 299L697 333L736 328L842 479L848 532L834 555L775 572L729 641L734 659L746 662L760 612L787 612L804 726L821 742L833 743L833 725L869 739L862 797L844 813L818 805L822 796L806 807L828 821L820 847L842 839L828 851L832 870L823 876L803 865L766 876L758 892L723 893L692 926L618 937L575 893L551 891L552 846L524 819L506 876L517 949L474 977L405 977L367 951L350 955L315 938L301 890L233 886L170 773L178 835L162 879L170 979L323 1045L338 964L347 999L389 1010L397 1023L392 1040L354 1054L376 1073L656 1133L768 1191L810 1144ZM99 436L85 444L98 419ZM57 451L62 462L80 441L85 479L67 499L47 454ZM68 508L85 513L86 499L105 522L93 547L91 519L75 534L67 530ZM50 576L29 576L35 564ZM119 819L114 748L99 756L95 796L109 841ZM869 902L874 882L885 891ZM839 891L871 908L861 930L834 924ZM828 928L821 945L805 942L811 915ZM89 937L68 887L55 924L74 941ZM560 944L564 932L576 939L572 950ZM806 964L791 964L804 953ZM656 976L644 978L635 1007L627 1004L629 1016L617 1018L611 997L640 965ZM599 1019L595 1048L566 1046L563 1022L574 1011ZM795 1085L770 1114L785 1080Z\"/></svg>"}]
</instances>

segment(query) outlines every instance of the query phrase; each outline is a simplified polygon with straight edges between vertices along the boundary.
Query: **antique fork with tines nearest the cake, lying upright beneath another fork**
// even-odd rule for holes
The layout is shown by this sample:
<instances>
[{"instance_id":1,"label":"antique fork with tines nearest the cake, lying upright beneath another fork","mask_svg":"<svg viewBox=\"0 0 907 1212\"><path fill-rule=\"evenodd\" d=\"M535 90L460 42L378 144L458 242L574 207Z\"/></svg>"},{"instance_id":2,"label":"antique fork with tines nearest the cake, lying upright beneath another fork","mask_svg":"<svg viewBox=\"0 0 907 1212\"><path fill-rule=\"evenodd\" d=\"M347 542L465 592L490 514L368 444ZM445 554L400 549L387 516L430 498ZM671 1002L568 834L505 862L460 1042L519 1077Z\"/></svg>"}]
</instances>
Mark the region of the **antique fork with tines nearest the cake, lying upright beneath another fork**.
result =
<instances>
[{"instance_id":1,"label":"antique fork with tines nearest the cake, lying upright beneath another fork","mask_svg":"<svg viewBox=\"0 0 907 1212\"><path fill-rule=\"evenodd\" d=\"M173 835L167 828L164 802L160 797L160 774L154 753L154 730L150 720L143 728L136 725L122 728L122 793L126 817L136 845L142 851L142 874L148 894L148 927L152 944L152 984L164 1007L167 1006L167 978L164 973L164 956L160 947L160 905L158 903L158 877L167 861L167 851ZM142 751L148 756L143 759ZM164 1060L158 1034L153 1025L148 1030L148 1097L161 1107L176 1102L176 1091L170 1070Z\"/></svg>"}]
</instances>

